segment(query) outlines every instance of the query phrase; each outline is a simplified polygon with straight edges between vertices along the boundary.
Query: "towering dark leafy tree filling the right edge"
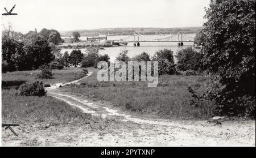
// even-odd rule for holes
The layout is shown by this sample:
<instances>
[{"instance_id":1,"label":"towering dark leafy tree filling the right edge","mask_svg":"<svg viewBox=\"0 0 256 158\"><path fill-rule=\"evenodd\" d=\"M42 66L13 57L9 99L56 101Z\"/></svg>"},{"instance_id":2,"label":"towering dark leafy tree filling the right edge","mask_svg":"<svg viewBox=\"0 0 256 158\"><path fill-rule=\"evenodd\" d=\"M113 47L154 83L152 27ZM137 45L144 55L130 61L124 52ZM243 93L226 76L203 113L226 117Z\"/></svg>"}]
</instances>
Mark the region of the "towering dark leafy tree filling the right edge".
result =
<instances>
[{"instance_id":1,"label":"towering dark leafy tree filling the right edge","mask_svg":"<svg viewBox=\"0 0 256 158\"><path fill-rule=\"evenodd\" d=\"M255 117L255 1L218 2L205 18L204 65L220 83L210 98L222 114Z\"/></svg>"}]
</instances>

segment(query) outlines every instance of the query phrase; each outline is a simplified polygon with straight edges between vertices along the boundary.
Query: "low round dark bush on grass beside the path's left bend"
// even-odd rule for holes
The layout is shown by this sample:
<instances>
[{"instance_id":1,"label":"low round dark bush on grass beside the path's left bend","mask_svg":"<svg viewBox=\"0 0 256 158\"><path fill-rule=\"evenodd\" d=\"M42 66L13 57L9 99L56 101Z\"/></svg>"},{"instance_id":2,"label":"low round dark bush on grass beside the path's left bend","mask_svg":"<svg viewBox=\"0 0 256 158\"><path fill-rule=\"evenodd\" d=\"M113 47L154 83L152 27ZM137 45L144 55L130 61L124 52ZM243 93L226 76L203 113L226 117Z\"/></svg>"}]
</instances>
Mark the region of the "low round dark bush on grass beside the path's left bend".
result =
<instances>
[{"instance_id":1,"label":"low round dark bush on grass beside the path's left bend","mask_svg":"<svg viewBox=\"0 0 256 158\"><path fill-rule=\"evenodd\" d=\"M36 80L35 82L23 83L18 89L18 95L20 96L44 96L46 91L44 90L43 82Z\"/></svg>"}]
</instances>

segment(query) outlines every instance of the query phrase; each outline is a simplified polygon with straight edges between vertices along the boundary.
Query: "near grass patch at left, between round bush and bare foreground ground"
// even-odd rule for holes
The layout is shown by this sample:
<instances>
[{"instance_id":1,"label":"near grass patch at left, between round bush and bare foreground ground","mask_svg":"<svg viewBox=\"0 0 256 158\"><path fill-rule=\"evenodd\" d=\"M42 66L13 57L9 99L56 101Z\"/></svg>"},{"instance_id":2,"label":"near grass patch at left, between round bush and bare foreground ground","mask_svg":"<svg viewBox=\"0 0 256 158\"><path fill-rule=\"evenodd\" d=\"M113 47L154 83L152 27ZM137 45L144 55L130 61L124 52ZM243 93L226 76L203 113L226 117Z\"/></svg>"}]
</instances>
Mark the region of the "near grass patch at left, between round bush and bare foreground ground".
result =
<instances>
[{"instance_id":1,"label":"near grass patch at left, between round bush and bare foreground ground","mask_svg":"<svg viewBox=\"0 0 256 158\"><path fill-rule=\"evenodd\" d=\"M63 124L89 124L101 119L81 113L70 105L53 97L16 96L15 89L2 90L2 122L50 126Z\"/></svg>"}]
</instances>

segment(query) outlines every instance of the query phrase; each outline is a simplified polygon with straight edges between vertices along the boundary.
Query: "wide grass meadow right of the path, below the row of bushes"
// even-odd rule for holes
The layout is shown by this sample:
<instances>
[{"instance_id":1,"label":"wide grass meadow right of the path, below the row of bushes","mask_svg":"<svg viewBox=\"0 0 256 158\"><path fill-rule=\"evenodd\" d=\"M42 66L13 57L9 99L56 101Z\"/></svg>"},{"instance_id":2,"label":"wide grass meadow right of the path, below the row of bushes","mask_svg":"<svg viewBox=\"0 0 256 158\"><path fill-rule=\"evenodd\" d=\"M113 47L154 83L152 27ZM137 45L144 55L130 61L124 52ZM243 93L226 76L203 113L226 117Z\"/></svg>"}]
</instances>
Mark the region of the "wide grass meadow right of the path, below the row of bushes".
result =
<instances>
[{"instance_id":1,"label":"wide grass meadow right of the path, below the row of bushes","mask_svg":"<svg viewBox=\"0 0 256 158\"><path fill-rule=\"evenodd\" d=\"M83 95L92 100L104 100L138 114L150 114L160 118L205 119L213 116L213 103L198 108L189 105L192 86L199 94L205 91L209 78L205 76L163 75L158 87L148 88L146 82L98 82L97 69L81 84L61 87L62 92Z\"/></svg>"}]
</instances>

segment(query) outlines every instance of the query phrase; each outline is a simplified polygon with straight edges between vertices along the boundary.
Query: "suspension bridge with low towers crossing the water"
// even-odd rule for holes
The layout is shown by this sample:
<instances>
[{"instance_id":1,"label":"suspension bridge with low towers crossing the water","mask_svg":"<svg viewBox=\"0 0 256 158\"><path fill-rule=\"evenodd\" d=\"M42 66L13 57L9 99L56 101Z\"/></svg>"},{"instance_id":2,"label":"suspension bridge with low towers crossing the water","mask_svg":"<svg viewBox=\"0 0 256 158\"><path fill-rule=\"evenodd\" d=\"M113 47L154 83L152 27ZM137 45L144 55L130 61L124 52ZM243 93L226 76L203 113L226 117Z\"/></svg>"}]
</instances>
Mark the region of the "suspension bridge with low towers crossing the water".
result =
<instances>
[{"instance_id":1,"label":"suspension bridge with low towers crossing the water","mask_svg":"<svg viewBox=\"0 0 256 158\"><path fill-rule=\"evenodd\" d=\"M125 37L119 40L113 40L113 45L127 45L128 42L133 42L134 46L139 46L139 42L177 42L178 45L183 45L183 42L194 42L194 38L182 33L178 32L176 34L159 38L159 37L152 37L152 36L144 36L141 33L134 33L131 36Z\"/></svg>"}]
</instances>

